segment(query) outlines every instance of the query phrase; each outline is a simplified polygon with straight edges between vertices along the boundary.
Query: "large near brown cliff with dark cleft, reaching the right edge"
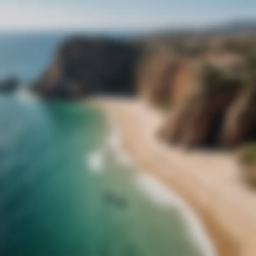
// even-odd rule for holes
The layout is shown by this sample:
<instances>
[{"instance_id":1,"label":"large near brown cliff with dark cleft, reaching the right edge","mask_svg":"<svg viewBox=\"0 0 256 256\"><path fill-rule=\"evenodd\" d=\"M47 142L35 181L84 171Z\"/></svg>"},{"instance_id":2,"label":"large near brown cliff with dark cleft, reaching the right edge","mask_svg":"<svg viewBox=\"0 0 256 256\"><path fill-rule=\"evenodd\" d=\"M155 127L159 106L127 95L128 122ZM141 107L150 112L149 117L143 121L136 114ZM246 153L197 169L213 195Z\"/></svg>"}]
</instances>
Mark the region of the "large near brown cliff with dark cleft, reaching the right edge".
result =
<instances>
[{"instance_id":1,"label":"large near brown cliff with dark cleft, reaching the right edge","mask_svg":"<svg viewBox=\"0 0 256 256\"><path fill-rule=\"evenodd\" d=\"M169 143L186 147L229 146L255 135L255 94L231 69L201 65L189 97L174 107L160 131ZM196 73L194 73L196 74ZM178 86L178 84L176 84Z\"/></svg>"}]
</instances>

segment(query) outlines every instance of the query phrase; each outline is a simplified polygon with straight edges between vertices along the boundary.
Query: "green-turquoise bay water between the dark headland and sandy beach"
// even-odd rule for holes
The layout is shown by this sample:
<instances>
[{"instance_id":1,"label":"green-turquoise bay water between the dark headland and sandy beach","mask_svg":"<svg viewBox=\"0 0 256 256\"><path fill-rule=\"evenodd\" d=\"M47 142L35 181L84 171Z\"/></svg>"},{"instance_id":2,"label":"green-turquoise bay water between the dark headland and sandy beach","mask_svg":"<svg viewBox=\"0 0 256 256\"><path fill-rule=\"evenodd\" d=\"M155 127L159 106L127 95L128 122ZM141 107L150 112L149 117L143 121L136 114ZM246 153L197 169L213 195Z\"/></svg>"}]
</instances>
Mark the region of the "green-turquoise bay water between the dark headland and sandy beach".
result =
<instances>
[{"instance_id":1,"label":"green-turquoise bay water between the dark headland and sandy beach","mask_svg":"<svg viewBox=\"0 0 256 256\"><path fill-rule=\"evenodd\" d=\"M0 255L201 256L179 209L155 203L83 102L0 96Z\"/></svg>"}]
</instances>

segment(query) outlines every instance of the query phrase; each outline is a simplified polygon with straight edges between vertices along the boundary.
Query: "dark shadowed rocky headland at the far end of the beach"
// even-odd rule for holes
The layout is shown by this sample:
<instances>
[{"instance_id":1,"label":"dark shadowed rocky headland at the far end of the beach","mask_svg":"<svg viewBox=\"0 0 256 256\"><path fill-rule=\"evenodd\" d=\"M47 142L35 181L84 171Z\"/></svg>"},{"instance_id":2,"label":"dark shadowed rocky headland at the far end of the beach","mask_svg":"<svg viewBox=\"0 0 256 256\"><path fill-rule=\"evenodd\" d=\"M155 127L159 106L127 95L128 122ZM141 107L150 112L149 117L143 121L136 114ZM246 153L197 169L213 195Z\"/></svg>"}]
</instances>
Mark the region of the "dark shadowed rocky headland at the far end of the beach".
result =
<instances>
[{"instance_id":1,"label":"dark shadowed rocky headland at the far end of the beach","mask_svg":"<svg viewBox=\"0 0 256 256\"><path fill-rule=\"evenodd\" d=\"M74 37L58 49L33 90L49 98L133 94L138 49L129 42Z\"/></svg>"}]
</instances>

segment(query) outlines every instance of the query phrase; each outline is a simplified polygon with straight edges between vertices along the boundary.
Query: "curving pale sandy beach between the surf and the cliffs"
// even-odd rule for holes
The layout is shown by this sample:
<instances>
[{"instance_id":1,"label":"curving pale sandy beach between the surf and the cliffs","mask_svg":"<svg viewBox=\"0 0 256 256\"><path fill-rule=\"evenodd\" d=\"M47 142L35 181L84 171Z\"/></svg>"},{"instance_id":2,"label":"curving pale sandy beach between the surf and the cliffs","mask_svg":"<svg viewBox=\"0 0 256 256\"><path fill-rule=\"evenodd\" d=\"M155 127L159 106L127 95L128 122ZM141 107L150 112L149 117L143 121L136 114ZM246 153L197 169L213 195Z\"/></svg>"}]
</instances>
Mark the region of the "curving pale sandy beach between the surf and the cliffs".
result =
<instances>
[{"instance_id":1,"label":"curving pale sandy beach between the surf and the cliffs","mask_svg":"<svg viewBox=\"0 0 256 256\"><path fill-rule=\"evenodd\" d=\"M139 100L94 102L111 113L135 163L194 210L218 255L256 255L256 192L241 182L234 156L165 145L156 138L162 114Z\"/></svg>"}]
</instances>

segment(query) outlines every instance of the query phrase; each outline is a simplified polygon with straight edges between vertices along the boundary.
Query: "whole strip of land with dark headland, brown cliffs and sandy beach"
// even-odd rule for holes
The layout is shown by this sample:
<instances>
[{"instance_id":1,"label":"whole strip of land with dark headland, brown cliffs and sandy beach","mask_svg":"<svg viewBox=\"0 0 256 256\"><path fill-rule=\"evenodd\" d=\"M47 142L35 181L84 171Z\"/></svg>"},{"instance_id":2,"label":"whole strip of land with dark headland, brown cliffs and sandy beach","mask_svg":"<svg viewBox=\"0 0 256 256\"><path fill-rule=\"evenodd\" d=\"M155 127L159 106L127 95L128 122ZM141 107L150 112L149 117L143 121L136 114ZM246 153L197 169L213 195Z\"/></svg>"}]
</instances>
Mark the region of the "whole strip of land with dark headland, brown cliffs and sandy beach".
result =
<instances>
[{"instance_id":1,"label":"whole strip of land with dark headland, brown cliffs and sandy beach","mask_svg":"<svg viewBox=\"0 0 256 256\"><path fill-rule=\"evenodd\" d=\"M69 38L32 91L92 98L139 168L195 211L218 255L255 256L256 41L248 35Z\"/></svg>"}]
</instances>

